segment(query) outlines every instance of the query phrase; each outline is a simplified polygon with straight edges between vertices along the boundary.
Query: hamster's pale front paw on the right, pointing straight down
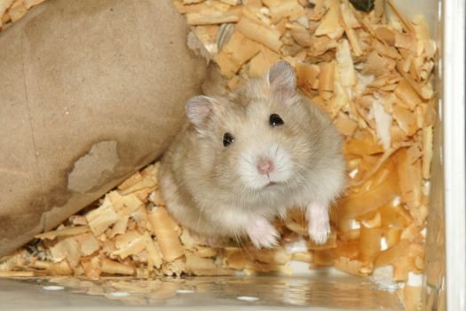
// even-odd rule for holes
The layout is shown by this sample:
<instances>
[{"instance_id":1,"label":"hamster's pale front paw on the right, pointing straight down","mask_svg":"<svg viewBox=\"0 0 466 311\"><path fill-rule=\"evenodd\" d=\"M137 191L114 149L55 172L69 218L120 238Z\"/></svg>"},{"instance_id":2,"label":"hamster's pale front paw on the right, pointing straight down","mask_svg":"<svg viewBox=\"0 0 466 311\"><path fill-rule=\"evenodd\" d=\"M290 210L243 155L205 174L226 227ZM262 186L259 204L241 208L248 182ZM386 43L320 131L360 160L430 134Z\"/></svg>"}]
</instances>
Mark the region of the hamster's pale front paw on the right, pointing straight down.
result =
<instances>
[{"instance_id":1,"label":"hamster's pale front paw on the right, pointing straight down","mask_svg":"<svg viewBox=\"0 0 466 311\"><path fill-rule=\"evenodd\" d=\"M330 234L327 206L321 206L317 203L310 204L307 208L307 221L309 237L312 242L318 245L325 244Z\"/></svg>"}]
</instances>

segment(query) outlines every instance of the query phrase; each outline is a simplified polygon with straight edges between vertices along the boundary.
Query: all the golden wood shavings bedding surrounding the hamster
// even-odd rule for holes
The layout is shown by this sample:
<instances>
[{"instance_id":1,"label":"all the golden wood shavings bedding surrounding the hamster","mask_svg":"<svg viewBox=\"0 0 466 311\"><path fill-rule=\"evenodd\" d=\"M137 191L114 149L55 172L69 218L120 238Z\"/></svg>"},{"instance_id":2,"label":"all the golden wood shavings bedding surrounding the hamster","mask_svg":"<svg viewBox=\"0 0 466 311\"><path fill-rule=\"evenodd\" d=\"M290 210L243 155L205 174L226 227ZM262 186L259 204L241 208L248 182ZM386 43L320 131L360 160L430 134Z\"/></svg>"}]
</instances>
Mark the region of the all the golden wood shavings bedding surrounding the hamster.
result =
<instances>
[{"instance_id":1,"label":"all the golden wood shavings bedding surrounding the hamster","mask_svg":"<svg viewBox=\"0 0 466 311\"><path fill-rule=\"evenodd\" d=\"M26 2L26 1L25 1ZM290 260L352 275L389 272L405 305L419 303L437 52L426 21L407 21L390 0L359 12L346 0L175 0L234 89L277 60L296 68L301 91L344 135L348 187L325 245L306 236L303 214L277 221L281 246L206 246L170 218L149 166L68 219L39 243L3 259L4 275L228 275L287 272ZM385 8L388 7L386 10ZM28 251L29 250L29 251ZM386 267L390 267L386 269ZM19 270L25 272L18 272Z\"/></svg>"}]
</instances>

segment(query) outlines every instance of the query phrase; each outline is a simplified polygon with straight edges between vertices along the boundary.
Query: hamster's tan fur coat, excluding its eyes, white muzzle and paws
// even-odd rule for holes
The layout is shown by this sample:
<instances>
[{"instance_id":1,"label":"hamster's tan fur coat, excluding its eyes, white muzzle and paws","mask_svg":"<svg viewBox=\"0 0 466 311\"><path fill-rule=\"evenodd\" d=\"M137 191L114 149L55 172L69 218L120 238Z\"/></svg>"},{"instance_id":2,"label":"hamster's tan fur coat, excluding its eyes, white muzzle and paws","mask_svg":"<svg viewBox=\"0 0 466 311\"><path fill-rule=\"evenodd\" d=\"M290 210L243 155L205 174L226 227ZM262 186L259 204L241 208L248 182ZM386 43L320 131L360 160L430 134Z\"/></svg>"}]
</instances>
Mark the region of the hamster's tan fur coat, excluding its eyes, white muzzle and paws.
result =
<instances>
[{"instance_id":1,"label":"hamster's tan fur coat, excluding its eyes, white muzzle and paws","mask_svg":"<svg viewBox=\"0 0 466 311\"><path fill-rule=\"evenodd\" d=\"M328 206L344 185L341 137L312 100L296 93L284 99L267 76L214 98L208 124L186 124L162 159L162 195L178 221L209 236L244 235L256 216L272 219L291 206ZM285 124L269 125L278 114ZM234 136L222 144L225 132ZM280 185L249 189L238 169L244 150L276 143L290 156L296 174Z\"/></svg>"}]
</instances>

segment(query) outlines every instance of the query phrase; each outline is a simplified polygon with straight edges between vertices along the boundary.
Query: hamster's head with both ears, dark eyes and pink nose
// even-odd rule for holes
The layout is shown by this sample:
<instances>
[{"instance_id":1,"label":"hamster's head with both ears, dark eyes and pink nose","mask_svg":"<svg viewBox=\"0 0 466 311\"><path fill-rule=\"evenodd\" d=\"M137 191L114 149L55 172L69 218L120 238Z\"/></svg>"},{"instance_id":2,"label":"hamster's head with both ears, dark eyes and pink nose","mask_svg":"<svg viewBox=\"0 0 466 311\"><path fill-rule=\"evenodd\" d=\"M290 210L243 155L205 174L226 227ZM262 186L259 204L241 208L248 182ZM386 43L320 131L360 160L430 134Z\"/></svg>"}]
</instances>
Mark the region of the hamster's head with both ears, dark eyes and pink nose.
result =
<instances>
[{"instance_id":1,"label":"hamster's head with both ears, dark eyes and pink nose","mask_svg":"<svg viewBox=\"0 0 466 311\"><path fill-rule=\"evenodd\" d=\"M219 187L255 195L303 183L321 120L312 120L300 96L293 68L280 61L225 97L189 100L186 115L206 176Z\"/></svg>"}]
</instances>

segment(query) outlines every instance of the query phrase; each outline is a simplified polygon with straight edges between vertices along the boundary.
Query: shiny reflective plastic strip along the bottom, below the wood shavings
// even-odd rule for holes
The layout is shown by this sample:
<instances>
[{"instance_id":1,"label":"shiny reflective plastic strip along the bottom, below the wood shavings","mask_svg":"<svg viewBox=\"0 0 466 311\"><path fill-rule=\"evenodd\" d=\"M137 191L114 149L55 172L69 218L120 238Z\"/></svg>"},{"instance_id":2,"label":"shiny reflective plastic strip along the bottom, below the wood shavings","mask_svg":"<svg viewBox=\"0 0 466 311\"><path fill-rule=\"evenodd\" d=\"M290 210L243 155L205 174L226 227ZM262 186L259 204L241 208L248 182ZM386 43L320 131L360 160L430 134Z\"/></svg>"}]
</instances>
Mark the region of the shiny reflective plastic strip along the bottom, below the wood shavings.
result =
<instances>
[{"instance_id":1,"label":"shiny reflective plastic strip along the bottom, below the wood shavings","mask_svg":"<svg viewBox=\"0 0 466 311\"><path fill-rule=\"evenodd\" d=\"M3 310L402 309L396 291L327 270L305 276L0 279L0 301Z\"/></svg>"}]
</instances>

